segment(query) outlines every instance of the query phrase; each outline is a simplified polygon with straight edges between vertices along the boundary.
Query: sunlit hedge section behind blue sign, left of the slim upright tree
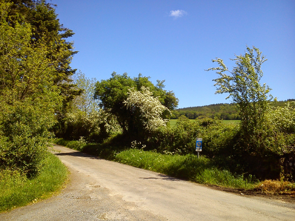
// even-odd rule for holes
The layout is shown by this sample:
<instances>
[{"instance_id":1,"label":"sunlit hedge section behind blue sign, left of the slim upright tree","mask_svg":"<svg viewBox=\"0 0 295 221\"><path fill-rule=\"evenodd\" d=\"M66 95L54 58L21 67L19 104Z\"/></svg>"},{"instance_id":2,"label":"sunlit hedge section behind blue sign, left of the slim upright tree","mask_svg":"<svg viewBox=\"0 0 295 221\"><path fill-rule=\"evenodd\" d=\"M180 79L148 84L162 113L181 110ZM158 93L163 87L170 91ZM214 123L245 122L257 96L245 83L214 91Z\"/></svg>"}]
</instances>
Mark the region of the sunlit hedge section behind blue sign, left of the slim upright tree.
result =
<instances>
[{"instance_id":1,"label":"sunlit hedge section behind blue sign, left of the slim upright tree","mask_svg":"<svg viewBox=\"0 0 295 221\"><path fill-rule=\"evenodd\" d=\"M233 124L223 124L221 120L205 118L189 120L180 117L175 127L162 127L155 131L147 140L148 149L156 149L163 153L193 154L195 153L196 138L203 138L206 145L205 154L214 157L223 146L228 147L230 140L225 136L231 133Z\"/></svg>"}]
</instances>

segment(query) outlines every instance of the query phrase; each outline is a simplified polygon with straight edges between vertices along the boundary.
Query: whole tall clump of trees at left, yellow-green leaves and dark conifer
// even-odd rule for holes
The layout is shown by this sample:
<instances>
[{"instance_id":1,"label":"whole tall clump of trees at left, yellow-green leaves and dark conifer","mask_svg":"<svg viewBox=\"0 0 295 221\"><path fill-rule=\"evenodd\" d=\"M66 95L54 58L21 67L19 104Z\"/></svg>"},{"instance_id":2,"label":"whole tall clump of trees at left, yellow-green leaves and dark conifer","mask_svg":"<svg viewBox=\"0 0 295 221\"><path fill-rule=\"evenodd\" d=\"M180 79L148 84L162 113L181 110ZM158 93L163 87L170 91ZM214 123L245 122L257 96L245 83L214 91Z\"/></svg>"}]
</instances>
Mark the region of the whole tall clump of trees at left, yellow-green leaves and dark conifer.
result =
<instances>
[{"instance_id":1,"label":"whole tall clump of trees at left, yellow-green leaves and dark conifer","mask_svg":"<svg viewBox=\"0 0 295 221\"><path fill-rule=\"evenodd\" d=\"M45 1L4 0L0 12L0 169L32 177L66 100L62 85L74 52Z\"/></svg>"}]
</instances>

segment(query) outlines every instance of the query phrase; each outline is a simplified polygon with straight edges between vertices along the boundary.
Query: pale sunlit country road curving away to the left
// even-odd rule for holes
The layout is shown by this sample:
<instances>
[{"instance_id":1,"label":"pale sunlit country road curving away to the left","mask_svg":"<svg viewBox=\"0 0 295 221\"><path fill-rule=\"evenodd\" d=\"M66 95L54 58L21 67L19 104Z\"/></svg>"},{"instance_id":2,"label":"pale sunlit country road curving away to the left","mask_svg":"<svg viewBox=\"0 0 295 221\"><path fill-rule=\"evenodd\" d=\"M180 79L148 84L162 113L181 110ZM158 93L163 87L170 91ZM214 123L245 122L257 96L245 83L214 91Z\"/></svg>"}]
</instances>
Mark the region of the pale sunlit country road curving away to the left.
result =
<instances>
[{"instance_id":1,"label":"pale sunlit country road curving away to the left","mask_svg":"<svg viewBox=\"0 0 295 221\"><path fill-rule=\"evenodd\" d=\"M59 145L70 182L50 199L0 214L1 221L295 220L295 204L227 193L102 160Z\"/></svg>"}]
</instances>

